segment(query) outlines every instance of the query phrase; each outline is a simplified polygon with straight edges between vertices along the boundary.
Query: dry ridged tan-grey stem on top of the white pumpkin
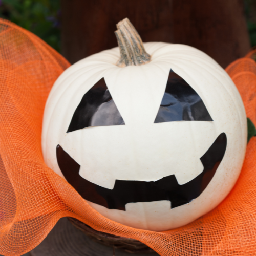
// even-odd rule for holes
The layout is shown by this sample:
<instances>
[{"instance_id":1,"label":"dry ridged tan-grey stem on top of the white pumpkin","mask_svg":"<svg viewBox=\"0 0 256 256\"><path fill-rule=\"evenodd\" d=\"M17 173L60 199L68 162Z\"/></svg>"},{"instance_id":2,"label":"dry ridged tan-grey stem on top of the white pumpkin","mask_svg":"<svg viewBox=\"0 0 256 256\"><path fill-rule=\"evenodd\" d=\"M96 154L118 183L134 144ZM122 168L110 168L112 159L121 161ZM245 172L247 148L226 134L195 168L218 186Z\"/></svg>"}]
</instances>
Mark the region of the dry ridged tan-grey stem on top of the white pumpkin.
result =
<instances>
[{"instance_id":1,"label":"dry ridged tan-grey stem on top of the white pumpkin","mask_svg":"<svg viewBox=\"0 0 256 256\"><path fill-rule=\"evenodd\" d=\"M145 51L143 42L129 19L125 18L117 24L115 31L121 58L118 67L130 65L140 66L150 62L150 55Z\"/></svg>"}]
</instances>

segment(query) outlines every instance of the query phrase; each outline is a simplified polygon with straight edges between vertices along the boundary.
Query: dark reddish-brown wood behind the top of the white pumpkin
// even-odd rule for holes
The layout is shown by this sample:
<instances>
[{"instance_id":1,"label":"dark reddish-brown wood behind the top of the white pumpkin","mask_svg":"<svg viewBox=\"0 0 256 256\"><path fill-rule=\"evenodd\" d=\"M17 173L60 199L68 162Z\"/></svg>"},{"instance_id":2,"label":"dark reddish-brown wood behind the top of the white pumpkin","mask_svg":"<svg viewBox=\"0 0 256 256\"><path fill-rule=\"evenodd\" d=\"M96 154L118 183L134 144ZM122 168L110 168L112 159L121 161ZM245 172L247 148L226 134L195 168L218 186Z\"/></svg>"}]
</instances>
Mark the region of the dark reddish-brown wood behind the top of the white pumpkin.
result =
<instances>
[{"instance_id":1,"label":"dark reddish-brown wood behind the top of the white pumpkin","mask_svg":"<svg viewBox=\"0 0 256 256\"><path fill-rule=\"evenodd\" d=\"M250 49L243 0L62 0L61 10L62 54L71 63L116 47L116 24L125 17L144 42L194 46L222 67Z\"/></svg>"}]
</instances>

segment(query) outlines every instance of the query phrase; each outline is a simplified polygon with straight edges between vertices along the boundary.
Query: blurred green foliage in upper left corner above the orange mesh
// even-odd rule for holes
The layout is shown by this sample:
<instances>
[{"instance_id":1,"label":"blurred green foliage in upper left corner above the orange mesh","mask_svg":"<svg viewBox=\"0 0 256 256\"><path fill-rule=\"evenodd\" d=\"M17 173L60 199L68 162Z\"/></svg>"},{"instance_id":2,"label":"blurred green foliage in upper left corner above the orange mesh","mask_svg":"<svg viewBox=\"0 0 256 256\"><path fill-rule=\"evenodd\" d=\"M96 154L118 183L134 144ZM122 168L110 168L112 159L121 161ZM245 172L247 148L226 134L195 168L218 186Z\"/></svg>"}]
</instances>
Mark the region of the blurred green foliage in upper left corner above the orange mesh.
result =
<instances>
[{"instance_id":1,"label":"blurred green foliage in upper left corner above the orange mesh","mask_svg":"<svg viewBox=\"0 0 256 256\"><path fill-rule=\"evenodd\" d=\"M0 0L0 17L16 23L60 51L60 0Z\"/></svg>"}]
</instances>

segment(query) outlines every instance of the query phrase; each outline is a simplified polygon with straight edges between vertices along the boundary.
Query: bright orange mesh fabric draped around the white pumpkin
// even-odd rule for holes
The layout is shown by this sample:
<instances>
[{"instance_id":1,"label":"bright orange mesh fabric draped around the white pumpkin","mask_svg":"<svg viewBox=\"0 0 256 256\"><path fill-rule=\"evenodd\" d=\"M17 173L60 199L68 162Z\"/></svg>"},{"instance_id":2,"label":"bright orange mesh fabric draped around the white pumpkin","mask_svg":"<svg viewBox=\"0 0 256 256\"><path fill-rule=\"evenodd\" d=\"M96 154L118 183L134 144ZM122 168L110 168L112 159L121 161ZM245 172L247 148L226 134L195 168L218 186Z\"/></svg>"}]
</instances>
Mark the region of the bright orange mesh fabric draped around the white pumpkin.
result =
<instances>
[{"instance_id":1,"label":"bright orange mesh fabric draped around the white pumpkin","mask_svg":"<svg viewBox=\"0 0 256 256\"><path fill-rule=\"evenodd\" d=\"M69 63L30 32L0 20L0 254L21 255L37 246L61 217L137 239L160 255L255 255L256 138L247 146L241 176L209 214L184 227L153 232L102 217L46 166L41 126L49 91ZM227 72L256 124L256 64L251 57Z\"/></svg>"}]
</instances>

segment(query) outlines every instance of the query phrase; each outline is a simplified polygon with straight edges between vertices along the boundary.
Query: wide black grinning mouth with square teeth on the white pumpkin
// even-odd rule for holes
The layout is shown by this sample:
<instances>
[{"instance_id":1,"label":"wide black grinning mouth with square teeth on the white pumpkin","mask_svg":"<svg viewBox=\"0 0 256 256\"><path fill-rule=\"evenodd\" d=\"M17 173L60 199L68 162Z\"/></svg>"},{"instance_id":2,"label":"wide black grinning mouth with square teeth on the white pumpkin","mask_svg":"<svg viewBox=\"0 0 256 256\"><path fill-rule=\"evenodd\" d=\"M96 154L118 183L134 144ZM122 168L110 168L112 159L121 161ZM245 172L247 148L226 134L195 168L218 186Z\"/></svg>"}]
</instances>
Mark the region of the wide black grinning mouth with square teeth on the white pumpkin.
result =
<instances>
[{"instance_id":1,"label":"wide black grinning mouth with square teeth on the white pumpkin","mask_svg":"<svg viewBox=\"0 0 256 256\"><path fill-rule=\"evenodd\" d=\"M227 136L221 133L207 152L200 158L204 169L193 180L180 185L175 175L157 181L116 180L114 188L96 185L79 175L80 165L57 145L59 168L67 181L86 200L109 209L125 210L127 203L168 200L171 208L191 202L201 195L214 177L226 151Z\"/></svg>"}]
</instances>

